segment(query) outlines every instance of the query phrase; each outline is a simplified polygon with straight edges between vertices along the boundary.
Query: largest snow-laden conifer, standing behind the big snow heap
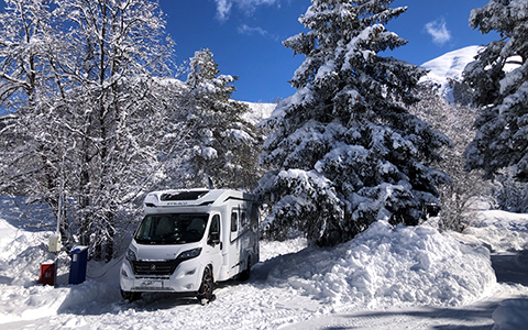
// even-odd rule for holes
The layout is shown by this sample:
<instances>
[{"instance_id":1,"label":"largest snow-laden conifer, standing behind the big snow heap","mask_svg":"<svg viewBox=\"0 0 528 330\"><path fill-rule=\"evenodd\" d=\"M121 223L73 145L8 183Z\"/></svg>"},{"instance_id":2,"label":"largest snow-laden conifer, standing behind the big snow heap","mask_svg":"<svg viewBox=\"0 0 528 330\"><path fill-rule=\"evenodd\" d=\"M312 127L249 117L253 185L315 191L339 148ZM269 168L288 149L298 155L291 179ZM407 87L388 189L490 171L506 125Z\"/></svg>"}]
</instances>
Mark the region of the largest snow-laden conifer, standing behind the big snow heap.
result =
<instances>
[{"instance_id":1,"label":"largest snow-laden conifer, standing behind the big snow heap","mask_svg":"<svg viewBox=\"0 0 528 330\"><path fill-rule=\"evenodd\" d=\"M331 245L373 221L417 224L438 205L449 177L428 167L449 139L409 113L419 67L378 53L406 44L383 24L406 11L391 0L312 0L299 21L309 30L284 42L305 62L294 96L268 124L263 164L276 168L256 191L273 206L270 231L300 230Z\"/></svg>"}]
</instances>

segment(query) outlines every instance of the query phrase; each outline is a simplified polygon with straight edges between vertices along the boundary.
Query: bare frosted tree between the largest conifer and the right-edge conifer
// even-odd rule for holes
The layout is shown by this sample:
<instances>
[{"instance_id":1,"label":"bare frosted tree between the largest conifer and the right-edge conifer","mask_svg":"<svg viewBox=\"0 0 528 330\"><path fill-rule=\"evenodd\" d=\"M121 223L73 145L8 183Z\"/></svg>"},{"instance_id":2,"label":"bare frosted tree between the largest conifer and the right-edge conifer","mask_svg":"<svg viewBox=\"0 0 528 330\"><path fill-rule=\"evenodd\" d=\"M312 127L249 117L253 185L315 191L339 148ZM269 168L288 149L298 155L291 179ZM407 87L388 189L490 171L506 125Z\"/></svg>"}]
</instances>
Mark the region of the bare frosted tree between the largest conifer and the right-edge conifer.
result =
<instances>
[{"instance_id":1,"label":"bare frosted tree between the largest conifer and the right-edge conifer","mask_svg":"<svg viewBox=\"0 0 528 330\"><path fill-rule=\"evenodd\" d=\"M475 130L469 122L476 118L476 109L468 106L471 90L459 80L451 80L453 103L440 96L439 86L420 82L417 96L420 101L409 110L420 119L430 122L432 128L448 135L453 147L441 148L442 161L433 165L446 172L452 182L439 187L440 206L439 229L463 231L472 219L472 207L480 199L491 199L491 185L482 179L481 170L464 170L464 150L475 136Z\"/></svg>"}]
</instances>

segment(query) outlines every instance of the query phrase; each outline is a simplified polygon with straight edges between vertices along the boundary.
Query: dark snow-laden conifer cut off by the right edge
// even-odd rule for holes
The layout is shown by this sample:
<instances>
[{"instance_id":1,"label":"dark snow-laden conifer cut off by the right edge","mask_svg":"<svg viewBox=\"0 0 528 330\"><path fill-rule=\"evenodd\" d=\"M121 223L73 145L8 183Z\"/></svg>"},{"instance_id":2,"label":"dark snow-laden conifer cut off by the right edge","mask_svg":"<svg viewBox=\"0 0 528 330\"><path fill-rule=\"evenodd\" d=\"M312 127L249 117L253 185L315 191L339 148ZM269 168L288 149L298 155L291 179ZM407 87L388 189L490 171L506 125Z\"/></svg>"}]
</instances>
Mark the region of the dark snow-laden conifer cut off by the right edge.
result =
<instances>
[{"instance_id":1,"label":"dark snow-laden conifer cut off by the right edge","mask_svg":"<svg viewBox=\"0 0 528 330\"><path fill-rule=\"evenodd\" d=\"M482 107L479 130L465 151L466 169L483 168L491 179L513 166L516 178L528 182L528 2L491 0L471 11L470 26L496 31L494 41L464 70ZM509 66L509 68L508 68ZM514 68L512 70L512 68Z\"/></svg>"}]
</instances>

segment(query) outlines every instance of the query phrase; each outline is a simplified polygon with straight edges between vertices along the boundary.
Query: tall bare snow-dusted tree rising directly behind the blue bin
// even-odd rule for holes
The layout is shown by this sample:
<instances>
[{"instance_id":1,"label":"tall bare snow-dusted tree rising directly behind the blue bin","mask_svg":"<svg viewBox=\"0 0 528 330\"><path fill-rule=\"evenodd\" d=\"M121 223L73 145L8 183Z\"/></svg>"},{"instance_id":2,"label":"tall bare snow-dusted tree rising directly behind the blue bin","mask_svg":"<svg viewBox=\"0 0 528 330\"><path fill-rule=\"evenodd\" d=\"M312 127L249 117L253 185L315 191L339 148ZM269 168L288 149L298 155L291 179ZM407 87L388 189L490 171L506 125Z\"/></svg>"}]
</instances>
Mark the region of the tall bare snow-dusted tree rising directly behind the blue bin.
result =
<instances>
[{"instance_id":1,"label":"tall bare snow-dusted tree rising directly behind the blue bin","mask_svg":"<svg viewBox=\"0 0 528 330\"><path fill-rule=\"evenodd\" d=\"M80 243L112 256L120 208L141 191L156 152L163 105L155 77L168 73L172 41L157 3L147 0L58 2L70 23L70 50L62 54L73 82L64 107L77 119L76 157ZM95 242L92 242L95 241Z\"/></svg>"}]
</instances>

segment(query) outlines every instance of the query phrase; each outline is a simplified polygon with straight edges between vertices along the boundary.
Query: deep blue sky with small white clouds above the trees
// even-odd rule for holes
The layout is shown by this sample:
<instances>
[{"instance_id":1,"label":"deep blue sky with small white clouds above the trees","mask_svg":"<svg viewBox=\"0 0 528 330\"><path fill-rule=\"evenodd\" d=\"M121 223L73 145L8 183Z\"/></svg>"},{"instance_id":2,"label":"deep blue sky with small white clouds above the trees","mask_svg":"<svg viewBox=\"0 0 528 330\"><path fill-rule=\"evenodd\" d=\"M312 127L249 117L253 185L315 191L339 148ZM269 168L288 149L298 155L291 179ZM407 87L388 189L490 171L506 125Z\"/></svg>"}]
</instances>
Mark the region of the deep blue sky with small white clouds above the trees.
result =
<instances>
[{"instance_id":1,"label":"deep blue sky with small white clouds above the trees","mask_svg":"<svg viewBox=\"0 0 528 330\"><path fill-rule=\"evenodd\" d=\"M447 52L486 44L496 34L469 28L473 8L488 0L396 0L392 7L408 11L387 29L409 43L383 54L420 65ZM302 55L293 56L282 41L300 33L300 14L310 0L160 0L167 15L167 32L176 42L176 62L211 48L221 74L239 76L234 98L271 102L295 92L288 80Z\"/></svg>"}]
</instances>

